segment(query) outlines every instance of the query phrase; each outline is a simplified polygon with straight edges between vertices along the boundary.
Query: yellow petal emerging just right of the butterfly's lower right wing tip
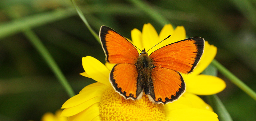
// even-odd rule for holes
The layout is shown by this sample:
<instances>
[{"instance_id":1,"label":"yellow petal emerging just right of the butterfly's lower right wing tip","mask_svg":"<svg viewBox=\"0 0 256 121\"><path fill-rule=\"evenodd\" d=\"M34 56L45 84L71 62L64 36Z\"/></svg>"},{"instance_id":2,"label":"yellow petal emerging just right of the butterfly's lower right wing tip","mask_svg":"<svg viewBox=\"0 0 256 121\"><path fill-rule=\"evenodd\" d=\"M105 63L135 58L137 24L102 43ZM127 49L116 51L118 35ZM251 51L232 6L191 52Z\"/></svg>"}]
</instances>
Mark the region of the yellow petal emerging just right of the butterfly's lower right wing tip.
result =
<instances>
[{"instance_id":1,"label":"yellow petal emerging just right of the butterfly's lower right wing tip","mask_svg":"<svg viewBox=\"0 0 256 121\"><path fill-rule=\"evenodd\" d=\"M191 102L193 108L199 108L199 109L204 109L204 110L208 110L208 111L213 111L212 107L210 105L208 105L207 103L205 103L197 95L190 94L190 93L184 93L182 96L184 96Z\"/></svg>"}]
</instances>

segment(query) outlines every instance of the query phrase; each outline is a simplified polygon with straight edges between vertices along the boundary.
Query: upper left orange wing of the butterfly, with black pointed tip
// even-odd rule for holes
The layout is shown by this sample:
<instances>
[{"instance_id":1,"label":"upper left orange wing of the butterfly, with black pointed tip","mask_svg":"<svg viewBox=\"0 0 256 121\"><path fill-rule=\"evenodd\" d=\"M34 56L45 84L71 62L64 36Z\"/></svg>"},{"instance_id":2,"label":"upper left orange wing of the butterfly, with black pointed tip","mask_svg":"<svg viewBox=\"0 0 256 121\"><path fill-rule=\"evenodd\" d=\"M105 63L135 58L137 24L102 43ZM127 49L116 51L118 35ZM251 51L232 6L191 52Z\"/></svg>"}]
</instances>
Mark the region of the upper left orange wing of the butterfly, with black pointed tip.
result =
<instances>
[{"instance_id":1,"label":"upper left orange wing of the butterfly, with black pointed tip","mask_svg":"<svg viewBox=\"0 0 256 121\"><path fill-rule=\"evenodd\" d=\"M100 42L109 63L132 64L139 56L131 42L107 26L100 27Z\"/></svg>"}]
</instances>

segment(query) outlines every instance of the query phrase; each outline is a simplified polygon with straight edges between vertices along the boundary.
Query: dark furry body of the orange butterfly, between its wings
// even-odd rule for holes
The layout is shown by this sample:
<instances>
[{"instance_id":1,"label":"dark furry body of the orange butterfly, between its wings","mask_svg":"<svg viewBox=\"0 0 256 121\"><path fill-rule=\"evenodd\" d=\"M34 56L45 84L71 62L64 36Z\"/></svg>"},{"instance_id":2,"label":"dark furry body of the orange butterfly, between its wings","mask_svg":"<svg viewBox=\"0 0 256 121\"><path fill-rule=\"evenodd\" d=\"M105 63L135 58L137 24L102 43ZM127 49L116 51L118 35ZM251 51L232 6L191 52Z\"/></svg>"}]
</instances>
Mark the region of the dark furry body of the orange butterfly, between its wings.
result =
<instances>
[{"instance_id":1,"label":"dark furry body of the orange butterfly, between its wings","mask_svg":"<svg viewBox=\"0 0 256 121\"><path fill-rule=\"evenodd\" d=\"M137 86L140 88L139 90L144 89L146 95L152 93L149 92L149 90L151 90L150 88L153 88L151 72L155 66L153 65L153 60L148 56L145 49L142 49L142 53L140 53L140 56L136 60L135 66L138 71Z\"/></svg>"}]
</instances>

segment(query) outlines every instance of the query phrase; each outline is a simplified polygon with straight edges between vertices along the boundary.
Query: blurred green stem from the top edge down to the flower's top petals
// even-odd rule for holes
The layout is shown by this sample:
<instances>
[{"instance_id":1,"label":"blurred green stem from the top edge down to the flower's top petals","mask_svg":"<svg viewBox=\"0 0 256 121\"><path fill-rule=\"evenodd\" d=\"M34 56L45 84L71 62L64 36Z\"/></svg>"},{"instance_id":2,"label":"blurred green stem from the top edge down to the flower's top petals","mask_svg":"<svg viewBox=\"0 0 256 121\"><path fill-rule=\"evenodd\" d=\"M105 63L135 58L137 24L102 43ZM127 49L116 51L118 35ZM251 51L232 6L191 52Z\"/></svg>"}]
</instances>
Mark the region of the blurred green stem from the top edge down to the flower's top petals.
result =
<instances>
[{"instance_id":1,"label":"blurred green stem from the top edge down to the flower's top petals","mask_svg":"<svg viewBox=\"0 0 256 121\"><path fill-rule=\"evenodd\" d=\"M164 18L163 15L158 13L156 10L154 10L150 5L148 5L146 2L143 2L141 0L129 0L131 3L133 3L135 6L140 8L142 11L147 13L149 16L151 16L156 22L164 26L165 24L170 24L170 22Z\"/></svg>"}]
</instances>

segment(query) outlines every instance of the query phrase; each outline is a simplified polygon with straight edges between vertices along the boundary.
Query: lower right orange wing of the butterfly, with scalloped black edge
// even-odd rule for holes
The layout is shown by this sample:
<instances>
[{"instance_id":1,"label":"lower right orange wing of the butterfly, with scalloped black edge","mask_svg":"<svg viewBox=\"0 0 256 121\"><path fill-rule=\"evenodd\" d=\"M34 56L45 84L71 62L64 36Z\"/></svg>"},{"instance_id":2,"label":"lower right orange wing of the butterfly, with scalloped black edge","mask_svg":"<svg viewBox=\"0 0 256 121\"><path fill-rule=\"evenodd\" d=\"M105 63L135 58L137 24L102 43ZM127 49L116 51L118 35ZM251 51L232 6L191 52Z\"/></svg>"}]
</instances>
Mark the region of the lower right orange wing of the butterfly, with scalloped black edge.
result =
<instances>
[{"instance_id":1,"label":"lower right orange wing of the butterfly, with scalloped black edge","mask_svg":"<svg viewBox=\"0 0 256 121\"><path fill-rule=\"evenodd\" d=\"M185 82L179 72L156 66L151 80L154 93L149 94L156 103L166 104L177 100L185 92Z\"/></svg>"}]
</instances>

